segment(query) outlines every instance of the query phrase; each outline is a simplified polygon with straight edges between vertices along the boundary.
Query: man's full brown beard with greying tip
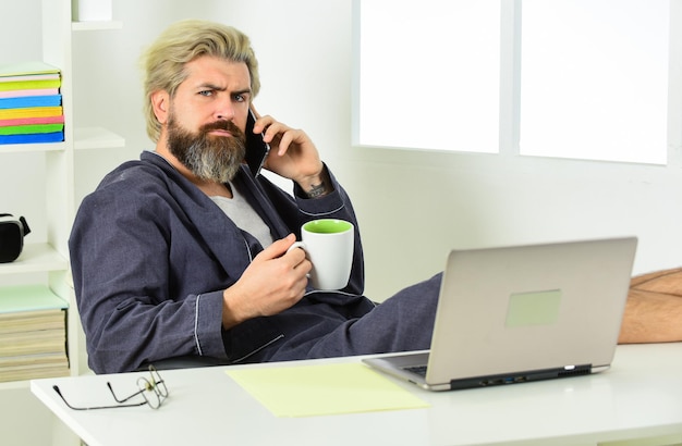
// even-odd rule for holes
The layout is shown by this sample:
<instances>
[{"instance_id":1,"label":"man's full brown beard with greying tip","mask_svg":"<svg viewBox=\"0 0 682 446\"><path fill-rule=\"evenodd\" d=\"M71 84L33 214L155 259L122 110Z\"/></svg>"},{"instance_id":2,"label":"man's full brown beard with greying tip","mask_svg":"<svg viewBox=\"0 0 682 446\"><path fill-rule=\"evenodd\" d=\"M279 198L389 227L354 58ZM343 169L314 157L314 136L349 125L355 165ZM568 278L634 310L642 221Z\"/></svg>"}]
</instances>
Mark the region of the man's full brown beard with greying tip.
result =
<instances>
[{"instance_id":1,"label":"man's full brown beard with greying tip","mask_svg":"<svg viewBox=\"0 0 682 446\"><path fill-rule=\"evenodd\" d=\"M209 135L215 129L229 136ZM194 175L204 181L227 183L234 178L246 152L244 133L231 121L217 121L192 133L180 126L173 114L168 121L168 148Z\"/></svg>"}]
</instances>

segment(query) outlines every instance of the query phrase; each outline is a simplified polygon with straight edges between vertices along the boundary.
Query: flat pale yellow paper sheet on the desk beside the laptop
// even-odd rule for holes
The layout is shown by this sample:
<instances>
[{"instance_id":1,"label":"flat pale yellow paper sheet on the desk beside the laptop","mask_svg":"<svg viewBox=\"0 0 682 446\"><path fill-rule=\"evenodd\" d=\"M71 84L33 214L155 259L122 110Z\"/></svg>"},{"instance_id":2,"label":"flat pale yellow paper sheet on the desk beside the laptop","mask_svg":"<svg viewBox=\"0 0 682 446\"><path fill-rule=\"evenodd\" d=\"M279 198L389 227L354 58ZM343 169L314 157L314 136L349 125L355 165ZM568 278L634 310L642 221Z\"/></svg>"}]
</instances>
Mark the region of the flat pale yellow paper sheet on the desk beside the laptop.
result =
<instances>
[{"instance_id":1,"label":"flat pale yellow paper sheet on the desk beside the laptop","mask_svg":"<svg viewBox=\"0 0 682 446\"><path fill-rule=\"evenodd\" d=\"M315 417L429 405L363 363L228 370L276 417Z\"/></svg>"}]
</instances>

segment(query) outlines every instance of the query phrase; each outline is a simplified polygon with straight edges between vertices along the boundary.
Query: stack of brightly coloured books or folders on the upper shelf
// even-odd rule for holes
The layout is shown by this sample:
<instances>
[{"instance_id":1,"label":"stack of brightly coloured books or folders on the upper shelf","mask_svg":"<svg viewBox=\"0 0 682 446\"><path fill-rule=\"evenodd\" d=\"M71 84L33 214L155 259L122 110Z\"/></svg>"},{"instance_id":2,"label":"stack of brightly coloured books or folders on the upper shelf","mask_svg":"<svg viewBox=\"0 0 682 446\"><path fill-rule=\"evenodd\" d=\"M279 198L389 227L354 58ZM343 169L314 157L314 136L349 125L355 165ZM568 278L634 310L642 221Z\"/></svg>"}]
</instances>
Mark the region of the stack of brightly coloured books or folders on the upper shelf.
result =
<instances>
[{"instance_id":1,"label":"stack of brightly coloured books or folders on the upper shelf","mask_svg":"<svg viewBox=\"0 0 682 446\"><path fill-rule=\"evenodd\" d=\"M64 140L61 73L42 62L0 65L0 144Z\"/></svg>"}]
</instances>

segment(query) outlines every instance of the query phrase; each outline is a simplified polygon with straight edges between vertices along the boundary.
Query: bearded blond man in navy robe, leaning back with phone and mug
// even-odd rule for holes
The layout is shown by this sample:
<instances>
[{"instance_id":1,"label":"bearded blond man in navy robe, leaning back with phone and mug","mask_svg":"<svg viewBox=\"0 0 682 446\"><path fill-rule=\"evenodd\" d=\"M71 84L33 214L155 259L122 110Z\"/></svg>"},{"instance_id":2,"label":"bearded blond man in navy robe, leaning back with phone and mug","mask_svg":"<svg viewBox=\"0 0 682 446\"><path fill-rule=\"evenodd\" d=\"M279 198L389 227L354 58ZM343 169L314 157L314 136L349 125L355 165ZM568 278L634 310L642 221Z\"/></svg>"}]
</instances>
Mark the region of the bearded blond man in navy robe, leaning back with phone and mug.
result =
<instances>
[{"instance_id":1,"label":"bearded blond man in navy robe, leaning back with phone and mug","mask_svg":"<svg viewBox=\"0 0 682 446\"><path fill-rule=\"evenodd\" d=\"M429 347L440 275L380 306L362 295L352 203L309 137L258 116L272 150L245 166L244 132L260 88L248 38L203 21L171 25L144 54L147 133L156 144L87 196L70 238L88 362L97 373L324 358ZM314 289L307 221L352 222L351 278Z\"/></svg>"}]
</instances>

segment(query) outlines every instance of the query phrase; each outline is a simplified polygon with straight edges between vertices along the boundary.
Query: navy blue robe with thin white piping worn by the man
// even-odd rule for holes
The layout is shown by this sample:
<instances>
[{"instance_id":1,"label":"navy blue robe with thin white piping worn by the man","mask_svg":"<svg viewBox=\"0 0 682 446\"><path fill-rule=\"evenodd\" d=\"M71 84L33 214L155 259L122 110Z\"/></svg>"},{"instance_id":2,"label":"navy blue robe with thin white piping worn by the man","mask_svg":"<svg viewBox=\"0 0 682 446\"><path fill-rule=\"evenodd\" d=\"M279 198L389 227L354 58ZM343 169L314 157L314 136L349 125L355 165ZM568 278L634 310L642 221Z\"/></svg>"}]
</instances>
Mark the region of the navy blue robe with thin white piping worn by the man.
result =
<instances>
[{"instance_id":1,"label":"navy blue robe with thin white piping worn by the man","mask_svg":"<svg viewBox=\"0 0 682 446\"><path fill-rule=\"evenodd\" d=\"M241 363L416 350L429 347L440 275L376 307L364 297L357 220L330 174L317 199L287 194L246 169L234 185L272 238L309 220L355 225L349 285L308 288L294 307L222 329L222 292L263 250L163 158L143 152L108 174L82 202L69 240L88 362L97 373L137 370L174 357ZM376 307L376 308L375 308Z\"/></svg>"}]
</instances>

